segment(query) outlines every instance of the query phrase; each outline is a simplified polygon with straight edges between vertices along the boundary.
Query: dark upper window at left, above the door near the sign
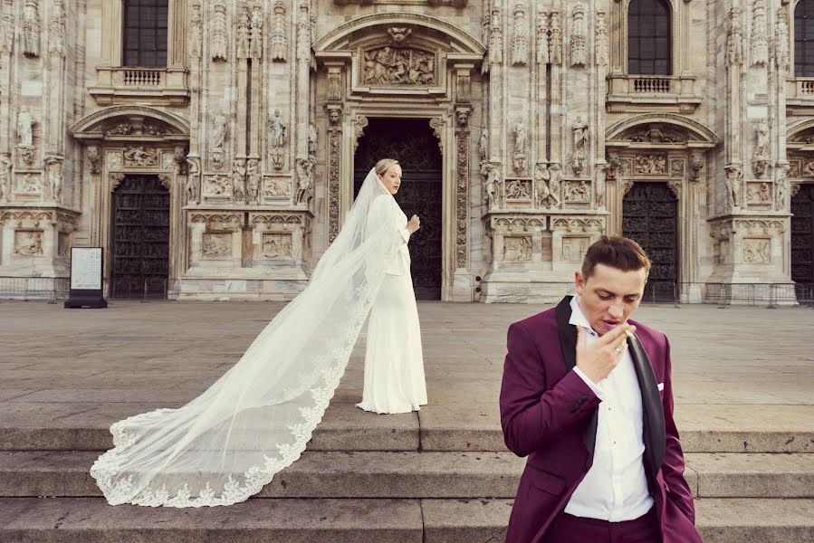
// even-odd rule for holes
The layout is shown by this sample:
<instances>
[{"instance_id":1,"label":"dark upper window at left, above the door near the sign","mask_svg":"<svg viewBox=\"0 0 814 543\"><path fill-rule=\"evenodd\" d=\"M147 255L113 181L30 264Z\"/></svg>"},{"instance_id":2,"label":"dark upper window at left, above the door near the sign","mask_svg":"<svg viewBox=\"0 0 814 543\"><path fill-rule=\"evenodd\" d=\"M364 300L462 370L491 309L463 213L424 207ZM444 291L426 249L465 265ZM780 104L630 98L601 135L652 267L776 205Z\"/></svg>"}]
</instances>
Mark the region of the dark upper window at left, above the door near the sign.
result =
<instances>
[{"instance_id":1,"label":"dark upper window at left, above the door near the sign","mask_svg":"<svg viewBox=\"0 0 814 543\"><path fill-rule=\"evenodd\" d=\"M125 0L122 64L167 67L168 0Z\"/></svg>"}]
</instances>

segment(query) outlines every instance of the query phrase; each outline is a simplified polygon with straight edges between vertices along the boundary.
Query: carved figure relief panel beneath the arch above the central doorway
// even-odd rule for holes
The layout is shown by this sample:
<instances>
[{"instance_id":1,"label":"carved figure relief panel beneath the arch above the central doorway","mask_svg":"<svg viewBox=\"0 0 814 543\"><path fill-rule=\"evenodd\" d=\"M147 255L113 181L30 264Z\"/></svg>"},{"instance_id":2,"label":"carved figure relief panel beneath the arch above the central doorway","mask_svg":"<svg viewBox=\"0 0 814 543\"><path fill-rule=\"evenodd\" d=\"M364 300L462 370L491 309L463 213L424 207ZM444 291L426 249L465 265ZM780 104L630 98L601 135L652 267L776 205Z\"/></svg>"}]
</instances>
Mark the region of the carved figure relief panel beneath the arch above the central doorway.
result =
<instances>
[{"instance_id":1,"label":"carved figure relief panel beneath the arch above the central doorway","mask_svg":"<svg viewBox=\"0 0 814 543\"><path fill-rule=\"evenodd\" d=\"M364 54L364 82L369 85L432 85L436 55L419 49L386 45Z\"/></svg>"}]
</instances>

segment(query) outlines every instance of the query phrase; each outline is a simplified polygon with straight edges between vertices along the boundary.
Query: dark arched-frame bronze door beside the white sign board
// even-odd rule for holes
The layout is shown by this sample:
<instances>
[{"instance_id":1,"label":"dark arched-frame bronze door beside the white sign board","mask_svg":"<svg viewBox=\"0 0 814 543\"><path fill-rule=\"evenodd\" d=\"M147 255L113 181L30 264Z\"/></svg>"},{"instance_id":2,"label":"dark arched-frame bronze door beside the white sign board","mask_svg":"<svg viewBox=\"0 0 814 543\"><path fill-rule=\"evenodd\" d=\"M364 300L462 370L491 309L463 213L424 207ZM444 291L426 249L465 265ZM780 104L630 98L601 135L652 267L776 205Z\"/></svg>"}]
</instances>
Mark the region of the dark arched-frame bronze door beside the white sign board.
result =
<instances>
[{"instance_id":1,"label":"dark arched-frame bronze door beside the white sign board","mask_svg":"<svg viewBox=\"0 0 814 543\"><path fill-rule=\"evenodd\" d=\"M111 298L164 298L169 191L158 176L126 176L113 192Z\"/></svg>"}]
</instances>

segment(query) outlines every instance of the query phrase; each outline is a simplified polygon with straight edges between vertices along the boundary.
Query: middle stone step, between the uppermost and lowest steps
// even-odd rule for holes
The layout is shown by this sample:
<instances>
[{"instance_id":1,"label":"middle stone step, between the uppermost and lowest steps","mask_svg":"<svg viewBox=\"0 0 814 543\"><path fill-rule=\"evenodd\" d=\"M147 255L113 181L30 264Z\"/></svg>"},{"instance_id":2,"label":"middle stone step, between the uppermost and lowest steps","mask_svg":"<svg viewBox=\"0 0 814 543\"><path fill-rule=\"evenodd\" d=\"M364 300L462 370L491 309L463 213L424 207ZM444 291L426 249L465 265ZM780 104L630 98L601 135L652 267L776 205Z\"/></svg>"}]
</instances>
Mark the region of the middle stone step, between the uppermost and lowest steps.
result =
<instances>
[{"instance_id":1,"label":"middle stone step, between the uppermost and lowest steps","mask_svg":"<svg viewBox=\"0 0 814 543\"><path fill-rule=\"evenodd\" d=\"M0 496L101 496L99 452L2 451ZM261 498L513 498L524 460L511 452L304 452ZM814 498L814 454L686 455L696 498Z\"/></svg>"}]
</instances>

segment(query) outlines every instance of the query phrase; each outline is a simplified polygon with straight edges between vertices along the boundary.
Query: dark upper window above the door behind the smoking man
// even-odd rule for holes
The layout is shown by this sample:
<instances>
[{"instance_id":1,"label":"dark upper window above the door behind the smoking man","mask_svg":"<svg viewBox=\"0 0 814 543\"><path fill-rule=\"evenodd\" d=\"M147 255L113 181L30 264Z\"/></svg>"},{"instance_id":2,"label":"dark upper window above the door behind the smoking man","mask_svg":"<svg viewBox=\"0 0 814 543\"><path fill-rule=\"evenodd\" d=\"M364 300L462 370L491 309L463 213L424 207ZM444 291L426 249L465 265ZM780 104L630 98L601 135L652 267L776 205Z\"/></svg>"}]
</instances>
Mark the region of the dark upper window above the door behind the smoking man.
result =
<instances>
[{"instance_id":1,"label":"dark upper window above the door behind the smoking man","mask_svg":"<svg viewBox=\"0 0 814 543\"><path fill-rule=\"evenodd\" d=\"M627 74L671 75L672 31L666 0L632 0L627 7Z\"/></svg>"}]
</instances>

